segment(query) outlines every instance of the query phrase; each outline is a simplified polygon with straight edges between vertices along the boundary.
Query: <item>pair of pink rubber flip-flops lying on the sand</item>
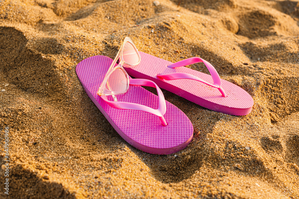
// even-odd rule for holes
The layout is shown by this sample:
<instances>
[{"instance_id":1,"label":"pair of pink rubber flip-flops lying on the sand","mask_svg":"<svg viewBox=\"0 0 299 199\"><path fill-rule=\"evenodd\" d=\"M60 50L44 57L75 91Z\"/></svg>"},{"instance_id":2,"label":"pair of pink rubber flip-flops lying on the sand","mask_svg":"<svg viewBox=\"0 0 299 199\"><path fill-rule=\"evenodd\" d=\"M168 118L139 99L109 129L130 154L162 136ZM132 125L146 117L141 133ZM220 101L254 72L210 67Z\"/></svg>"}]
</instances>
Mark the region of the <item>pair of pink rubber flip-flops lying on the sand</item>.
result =
<instances>
[{"instance_id":1,"label":"pair of pink rubber flip-flops lying on the sand","mask_svg":"<svg viewBox=\"0 0 299 199\"><path fill-rule=\"evenodd\" d=\"M125 57L119 55L122 56ZM119 65L115 61L118 57L112 60L96 55L84 59L76 67L87 95L119 135L137 149L153 154L171 154L184 149L193 138L191 121L179 108L164 100L159 87L217 112L230 115L247 115L251 112L251 96L237 85L220 79L215 68L201 58L172 63L143 52L138 52L138 56L138 64L127 65L125 70L129 75L141 79L128 77L130 86L128 84L126 92L117 95L117 99L116 92L105 95L99 87L109 81L111 68L115 70ZM184 67L198 62L203 62L211 75ZM119 76L123 73L121 68L118 68ZM159 96L140 85L156 87ZM112 90L109 85L104 86L104 89Z\"/></svg>"}]
</instances>

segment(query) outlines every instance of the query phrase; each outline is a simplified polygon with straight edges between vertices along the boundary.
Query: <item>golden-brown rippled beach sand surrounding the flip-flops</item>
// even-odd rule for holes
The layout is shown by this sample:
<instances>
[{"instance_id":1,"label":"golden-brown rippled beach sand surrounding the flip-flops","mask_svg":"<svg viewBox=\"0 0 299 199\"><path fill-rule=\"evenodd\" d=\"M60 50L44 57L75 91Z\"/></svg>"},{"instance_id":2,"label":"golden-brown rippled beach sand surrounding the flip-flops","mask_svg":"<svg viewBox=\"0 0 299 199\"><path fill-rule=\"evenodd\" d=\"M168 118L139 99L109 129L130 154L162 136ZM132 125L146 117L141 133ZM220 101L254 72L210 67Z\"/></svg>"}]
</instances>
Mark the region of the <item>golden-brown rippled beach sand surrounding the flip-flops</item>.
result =
<instances>
[{"instance_id":1,"label":"golden-brown rippled beach sand surrounding the flip-flops","mask_svg":"<svg viewBox=\"0 0 299 199\"><path fill-rule=\"evenodd\" d=\"M0 1L0 198L299 198L298 1L159 3ZM114 58L125 36L168 61L204 58L253 97L252 112L226 115L163 90L193 141L171 155L135 149L75 72L90 56Z\"/></svg>"}]
</instances>

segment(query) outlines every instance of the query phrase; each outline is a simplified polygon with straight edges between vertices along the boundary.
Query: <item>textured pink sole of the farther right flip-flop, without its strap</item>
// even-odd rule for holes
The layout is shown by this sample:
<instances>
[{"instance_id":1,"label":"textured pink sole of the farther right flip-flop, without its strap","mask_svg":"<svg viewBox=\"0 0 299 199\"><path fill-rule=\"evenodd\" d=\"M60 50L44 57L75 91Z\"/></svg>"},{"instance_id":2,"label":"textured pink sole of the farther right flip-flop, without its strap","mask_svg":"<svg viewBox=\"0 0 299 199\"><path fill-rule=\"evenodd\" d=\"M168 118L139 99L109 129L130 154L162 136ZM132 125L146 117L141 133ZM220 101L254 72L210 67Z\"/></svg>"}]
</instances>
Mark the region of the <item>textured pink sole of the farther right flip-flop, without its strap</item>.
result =
<instances>
[{"instance_id":1,"label":"textured pink sole of the farther right flip-flop, without its strap","mask_svg":"<svg viewBox=\"0 0 299 199\"><path fill-rule=\"evenodd\" d=\"M135 78L152 80L163 89L217 112L223 112L230 115L247 115L251 112L253 99L248 92L239 86L221 79L222 88L227 94L227 97L224 98L217 88L210 87L199 81L190 79L167 81L158 78L156 75L184 72L195 75L211 83L213 82L213 79L208 74L187 67L168 68L167 65L172 64L172 62L147 53L139 53L141 55L140 64L132 68L125 68L129 75Z\"/></svg>"}]
</instances>

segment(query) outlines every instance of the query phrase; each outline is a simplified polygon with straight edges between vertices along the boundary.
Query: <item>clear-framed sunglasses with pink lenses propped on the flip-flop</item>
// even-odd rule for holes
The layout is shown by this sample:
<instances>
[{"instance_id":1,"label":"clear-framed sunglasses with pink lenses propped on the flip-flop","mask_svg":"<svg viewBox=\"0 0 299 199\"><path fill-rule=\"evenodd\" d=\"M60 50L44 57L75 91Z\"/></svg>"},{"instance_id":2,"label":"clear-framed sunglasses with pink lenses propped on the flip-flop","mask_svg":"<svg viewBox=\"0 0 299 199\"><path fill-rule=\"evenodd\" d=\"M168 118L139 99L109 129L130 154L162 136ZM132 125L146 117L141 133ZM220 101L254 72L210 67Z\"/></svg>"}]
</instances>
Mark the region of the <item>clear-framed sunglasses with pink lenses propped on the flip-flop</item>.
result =
<instances>
[{"instance_id":1,"label":"clear-framed sunglasses with pink lenses propped on the flip-flop","mask_svg":"<svg viewBox=\"0 0 299 199\"><path fill-rule=\"evenodd\" d=\"M115 66L119 59L118 65ZM124 94L129 89L129 75L123 67L133 67L140 63L141 57L133 41L126 37L118 50L116 57L109 67L105 78L97 92L98 95L112 95L113 100L117 101L115 95Z\"/></svg>"}]
</instances>

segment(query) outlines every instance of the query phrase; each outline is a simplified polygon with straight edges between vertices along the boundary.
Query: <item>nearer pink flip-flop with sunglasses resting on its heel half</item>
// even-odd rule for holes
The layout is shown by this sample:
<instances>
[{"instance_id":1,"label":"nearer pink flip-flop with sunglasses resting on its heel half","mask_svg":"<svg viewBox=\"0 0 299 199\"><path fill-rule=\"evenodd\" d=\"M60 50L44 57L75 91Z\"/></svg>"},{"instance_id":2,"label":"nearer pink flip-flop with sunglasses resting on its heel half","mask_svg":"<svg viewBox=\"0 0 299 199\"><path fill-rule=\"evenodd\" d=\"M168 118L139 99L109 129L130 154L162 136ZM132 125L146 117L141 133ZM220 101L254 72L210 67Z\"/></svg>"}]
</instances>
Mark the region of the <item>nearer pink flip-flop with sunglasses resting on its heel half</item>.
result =
<instances>
[{"instance_id":1,"label":"nearer pink flip-flop with sunglasses resting on its heel half","mask_svg":"<svg viewBox=\"0 0 299 199\"><path fill-rule=\"evenodd\" d=\"M87 95L112 127L125 141L144 152L170 154L184 149L193 138L192 123L184 112L165 101L154 82L129 78L128 91L117 95L117 101L113 101L111 95L97 94L112 61L109 57L97 55L84 59L76 67ZM158 96L140 85L156 87ZM163 121L166 121L166 126L162 125Z\"/></svg>"}]
</instances>

